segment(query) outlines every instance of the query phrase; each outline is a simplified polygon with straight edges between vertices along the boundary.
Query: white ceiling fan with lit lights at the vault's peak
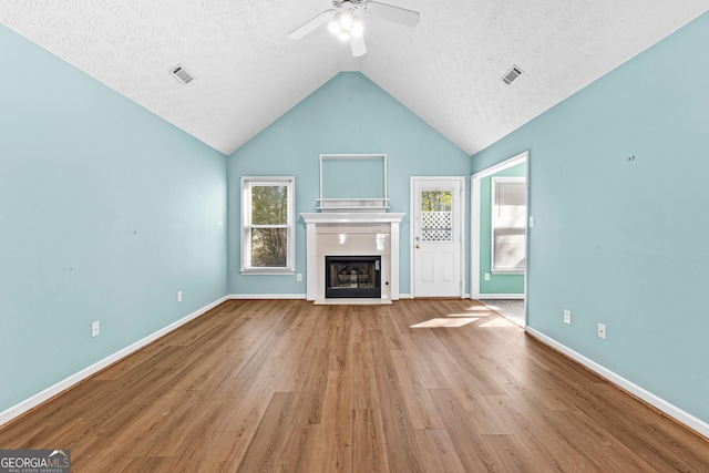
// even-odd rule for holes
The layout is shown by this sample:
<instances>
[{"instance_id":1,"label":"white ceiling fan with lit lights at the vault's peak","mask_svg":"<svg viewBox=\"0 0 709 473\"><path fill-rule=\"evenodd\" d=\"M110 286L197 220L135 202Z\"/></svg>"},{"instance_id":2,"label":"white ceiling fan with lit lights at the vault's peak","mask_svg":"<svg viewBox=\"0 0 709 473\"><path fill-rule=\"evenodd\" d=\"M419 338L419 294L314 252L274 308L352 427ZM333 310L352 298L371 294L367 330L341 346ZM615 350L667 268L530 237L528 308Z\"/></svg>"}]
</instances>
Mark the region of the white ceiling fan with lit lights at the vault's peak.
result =
<instances>
[{"instance_id":1,"label":"white ceiling fan with lit lights at the vault's peak","mask_svg":"<svg viewBox=\"0 0 709 473\"><path fill-rule=\"evenodd\" d=\"M418 11L394 7L388 3L380 3L371 0L332 0L332 8L306 21L288 34L291 40L299 40L314 31L319 25L329 21L329 30L336 34L340 41L349 41L352 55L359 58L367 53L364 37L362 35L361 17L373 14L381 19L393 21L413 28L419 24L420 14Z\"/></svg>"}]
</instances>

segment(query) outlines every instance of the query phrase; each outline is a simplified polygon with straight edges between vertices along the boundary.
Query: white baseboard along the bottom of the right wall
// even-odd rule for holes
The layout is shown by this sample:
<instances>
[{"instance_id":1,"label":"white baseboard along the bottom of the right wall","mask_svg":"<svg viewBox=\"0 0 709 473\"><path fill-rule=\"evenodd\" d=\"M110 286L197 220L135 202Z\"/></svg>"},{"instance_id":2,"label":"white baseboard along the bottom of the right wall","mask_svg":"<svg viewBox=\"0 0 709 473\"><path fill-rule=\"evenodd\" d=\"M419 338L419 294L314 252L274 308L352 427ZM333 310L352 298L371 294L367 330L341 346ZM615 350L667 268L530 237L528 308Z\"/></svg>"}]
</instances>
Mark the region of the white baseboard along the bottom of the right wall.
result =
<instances>
[{"instance_id":1,"label":"white baseboard along the bottom of the right wall","mask_svg":"<svg viewBox=\"0 0 709 473\"><path fill-rule=\"evenodd\" d=\"M595 361L584 357L583 354L572 350L571 348L559 343L558 341L554 340L553 338L549 338L547 336L545 336L544 333L534 330L531 327L526 328L526 332L528 335L531 335L532 337L534 337L535 339L540 340L542 343L547 345L552 348L554 348L555 350L561 351L562 353L566 354L568 358L573 359L574 361L577 361L578 363L583 364L584 367L588 368L589 370L594 371L595 373L602 376L603 378L607 379L608 381L610 381L612 383L620 387L621 389L628 391L629 393L631 393L633 395L641 399L643 401L647 402L648 404L659 409L660 411L662 411L664 413L666 413L667 415L669 415L670 418L675 419L678 422L681 422L682 424L687 425L689 429L695 430L696 432L698 432L699 434L706 436L709 439L709 423L702 421L701 419L697 419L696 417L691 415L688 412L682 411L681 409L679 409L678 407L670 404L669 402L665 401L664 399L653 394L651 392L645 390L644 388L640 388L639 385L635 384L631 381L628 381L627 379L623 378L621 376L610 371L609 369L596 363Z\"/></svg>"}]
</instances>

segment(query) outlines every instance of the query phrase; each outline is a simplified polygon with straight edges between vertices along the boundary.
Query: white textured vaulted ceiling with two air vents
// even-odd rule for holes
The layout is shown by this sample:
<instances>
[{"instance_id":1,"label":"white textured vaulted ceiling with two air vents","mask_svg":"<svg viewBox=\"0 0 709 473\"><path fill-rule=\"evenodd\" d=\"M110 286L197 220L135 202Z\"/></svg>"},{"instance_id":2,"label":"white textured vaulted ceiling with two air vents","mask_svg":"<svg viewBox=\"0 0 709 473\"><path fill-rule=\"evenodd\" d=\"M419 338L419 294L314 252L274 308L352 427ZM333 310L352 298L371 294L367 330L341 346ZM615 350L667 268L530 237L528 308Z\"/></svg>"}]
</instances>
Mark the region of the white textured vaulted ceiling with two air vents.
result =
<instances>
[{"instance_id":1,"label":"white textured vaulted ceiling with two air vents","mask_svg":"<svg viewBox=\"0 0 709 473\"><path fill-rule=\"evenodd\" d=\"M321 27L330 0L0 0L0 22L230 154L340 71L361 71L474 154L709 10L709 0L382 0L368 53ZM182 85L168 71L195 76ZM512 85L501 78L516 64Z\"/></svg>"}]
</instances>

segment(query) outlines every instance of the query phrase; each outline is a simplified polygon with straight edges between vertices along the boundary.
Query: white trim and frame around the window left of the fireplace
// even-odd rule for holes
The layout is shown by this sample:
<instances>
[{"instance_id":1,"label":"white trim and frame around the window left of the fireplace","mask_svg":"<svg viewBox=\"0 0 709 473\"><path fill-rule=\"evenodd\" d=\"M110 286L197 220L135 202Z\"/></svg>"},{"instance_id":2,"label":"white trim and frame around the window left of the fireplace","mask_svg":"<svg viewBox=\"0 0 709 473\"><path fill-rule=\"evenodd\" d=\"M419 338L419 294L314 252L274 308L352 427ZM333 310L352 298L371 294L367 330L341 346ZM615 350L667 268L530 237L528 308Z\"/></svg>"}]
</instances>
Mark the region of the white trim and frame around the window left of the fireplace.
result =
<instances>
[{"instance_id":1,"label":"white trim and frame around the window left of the fireplace","mask_svg":"<svg viewBox=\"0 0 709 473\"><path fill-rule=\"evenodd\" d=\"M288 239L288 255L286 267L264 268L250 266L250 215L251 215L251 185L285 185L288 192L288 222L286 237ZM242 261L243 275L294 275L296 273L296 199L295 176L242 176Z\"/></svg>"}]
</instances>

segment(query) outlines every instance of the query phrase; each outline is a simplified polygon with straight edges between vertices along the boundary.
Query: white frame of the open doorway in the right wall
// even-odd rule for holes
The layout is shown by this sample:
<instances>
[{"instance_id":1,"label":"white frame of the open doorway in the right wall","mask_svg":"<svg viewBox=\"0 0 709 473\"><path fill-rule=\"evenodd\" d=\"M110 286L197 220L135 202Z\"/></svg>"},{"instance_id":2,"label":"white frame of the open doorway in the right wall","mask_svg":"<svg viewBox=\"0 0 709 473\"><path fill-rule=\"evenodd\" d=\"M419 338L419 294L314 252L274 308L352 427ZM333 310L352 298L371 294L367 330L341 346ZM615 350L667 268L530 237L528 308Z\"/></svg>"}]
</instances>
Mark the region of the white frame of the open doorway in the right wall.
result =
<instances>
[{"instance_id":1,"label":"white frame of the open doorway in the right wall","mask_svg":"<svg viewBox=\"0 0 709 473\"><path fill-rule=\"evenodd\" d=\"M489 177L493 174L499 173L500 171L506 169L507 167L515 166L520 163L526 163L526 195L527 195L527 215L525 225L525 257L526 264L524 266L524 319L526 325L527 318L527 275L530 268L530 223L531 223L531 212L530 212L530 152L524 151L520 154L516 154L501 163L494 164L483 171L480 171L473 174L471 179L471 191L470 191L470 200L471 200L471 217L470 217L470 240L471 240L471 251L470 251L470 295L471 299L480 299L480 187L481 181L485 177Z\"/></svg>"}]
</instances>

